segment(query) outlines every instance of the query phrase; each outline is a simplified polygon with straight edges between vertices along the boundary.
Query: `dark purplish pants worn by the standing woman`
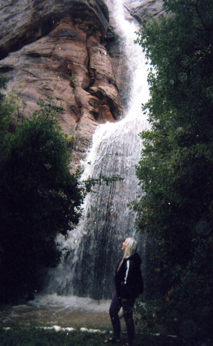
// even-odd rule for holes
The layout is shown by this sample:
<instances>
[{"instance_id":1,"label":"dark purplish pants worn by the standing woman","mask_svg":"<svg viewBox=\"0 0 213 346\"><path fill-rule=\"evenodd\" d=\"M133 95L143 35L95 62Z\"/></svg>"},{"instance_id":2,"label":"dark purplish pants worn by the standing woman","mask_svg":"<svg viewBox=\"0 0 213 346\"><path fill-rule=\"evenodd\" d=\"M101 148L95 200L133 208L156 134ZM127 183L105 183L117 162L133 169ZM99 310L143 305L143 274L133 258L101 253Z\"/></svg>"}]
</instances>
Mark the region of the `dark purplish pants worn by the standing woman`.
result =
<instances>
[{"instance_id":1,"label":"dark purplish pants worn by the standing woman","mask_svg":"<svg viewBox=\"0 0 213 346\"><path fill-rule=\"evenodd\" d=\"M115 292L113 300L109 308L109 315L112 321L115 339L120 338L120 319L118 316L118 312L120 311L121 307L123 308L124 320L126 323L126 331L127 331L128 341L130 345L132 345L133 339L135 336L135 326L134 326L133 311L132 311L134 303L135 303L135 299L127 299L126 301L119 299L117 292Z\"/></svg>"}]
</instances>

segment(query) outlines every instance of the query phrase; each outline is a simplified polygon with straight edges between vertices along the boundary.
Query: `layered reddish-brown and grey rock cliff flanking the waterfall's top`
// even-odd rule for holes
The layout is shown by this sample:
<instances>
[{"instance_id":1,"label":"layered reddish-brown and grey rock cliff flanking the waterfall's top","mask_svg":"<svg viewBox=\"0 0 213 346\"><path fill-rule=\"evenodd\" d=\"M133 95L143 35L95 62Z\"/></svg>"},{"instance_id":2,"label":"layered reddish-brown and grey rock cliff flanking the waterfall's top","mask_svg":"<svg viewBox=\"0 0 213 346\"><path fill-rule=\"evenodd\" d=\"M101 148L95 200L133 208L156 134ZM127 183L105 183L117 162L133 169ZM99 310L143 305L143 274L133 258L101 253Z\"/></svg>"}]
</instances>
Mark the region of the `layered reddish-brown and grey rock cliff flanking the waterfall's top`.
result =
<instances>
[{"instance_id":1,"label":"layered reddish-brown and grey rock cliff flanking the waterfall's top","mask_svg":"<svg viewBox=\"0 0 213 346\"><path fill-rule=\"evenodd\" d=\"M110 9L110 2L108 3ZM159 15L162 1L127 0L126 16ZM109 16L110 13L110 16ZM85 157L96 127L122 118L128 89L125 59L103 0L8 0L0 7L0 72L27 102L25 116L48 96L73 136L72 170Z\"/></svg>"}]
</instances>

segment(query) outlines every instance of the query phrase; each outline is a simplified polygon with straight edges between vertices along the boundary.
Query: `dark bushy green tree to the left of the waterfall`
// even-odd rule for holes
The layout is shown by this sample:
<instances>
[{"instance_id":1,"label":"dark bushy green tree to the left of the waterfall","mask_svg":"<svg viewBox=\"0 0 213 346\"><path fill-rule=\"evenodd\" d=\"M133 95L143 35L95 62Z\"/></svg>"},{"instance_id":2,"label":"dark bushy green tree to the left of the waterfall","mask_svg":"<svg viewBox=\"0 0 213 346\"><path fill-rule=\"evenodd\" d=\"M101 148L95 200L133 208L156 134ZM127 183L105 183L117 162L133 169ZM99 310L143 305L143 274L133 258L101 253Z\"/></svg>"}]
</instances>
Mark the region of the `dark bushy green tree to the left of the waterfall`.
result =
<instances>
[{"instance_id":1,"label":"dark bushy green tree to the left of the waterfall","mask_svg":"<svg viewBox=\"0 0 213 346\"><path fill-rule=\"evenodd\" d=\"M5 87L6 79L1 82ZM79 174L69 171L66 138L51 102L40 101L14 133L14 98L1 94L0 102L0 299L7 302L38 289L42 269L58 263L56 235L67 236L78 223L86 190Z\"/></svg>"}]
</instances>

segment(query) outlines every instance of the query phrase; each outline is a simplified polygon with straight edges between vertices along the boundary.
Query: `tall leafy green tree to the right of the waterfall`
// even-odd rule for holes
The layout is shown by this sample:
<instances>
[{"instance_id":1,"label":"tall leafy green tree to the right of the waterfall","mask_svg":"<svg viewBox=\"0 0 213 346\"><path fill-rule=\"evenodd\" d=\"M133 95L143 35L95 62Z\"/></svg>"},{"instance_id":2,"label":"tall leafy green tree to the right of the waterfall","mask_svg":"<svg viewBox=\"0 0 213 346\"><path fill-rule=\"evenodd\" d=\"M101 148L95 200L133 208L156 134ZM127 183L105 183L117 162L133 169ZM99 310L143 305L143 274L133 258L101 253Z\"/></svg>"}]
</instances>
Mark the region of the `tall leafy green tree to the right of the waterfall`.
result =
<instances>
[{"instance_id":1,"label":"tall leafy green tree to the right of the waterfall","mask_svg":"<svg viewBox=\"0 0 213 346\"><path fill-rule=\"evenodd\" d=\"M184 316L204 321L213 289L213 7L209 0L165 0L164 8L169 16L145 20L136 40L151 64L151 98L143 105L151 130L140 134L144 148L136 174L143 195L134 209L138 229L158 245L162 291L175 285L177 315L185 308ZM180 322L183 313L178 316ZM196 322L196 335L210 335L206 325Z\"/></svg>"}]
</instances>

